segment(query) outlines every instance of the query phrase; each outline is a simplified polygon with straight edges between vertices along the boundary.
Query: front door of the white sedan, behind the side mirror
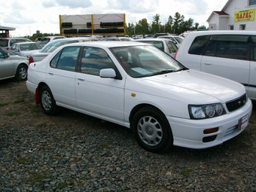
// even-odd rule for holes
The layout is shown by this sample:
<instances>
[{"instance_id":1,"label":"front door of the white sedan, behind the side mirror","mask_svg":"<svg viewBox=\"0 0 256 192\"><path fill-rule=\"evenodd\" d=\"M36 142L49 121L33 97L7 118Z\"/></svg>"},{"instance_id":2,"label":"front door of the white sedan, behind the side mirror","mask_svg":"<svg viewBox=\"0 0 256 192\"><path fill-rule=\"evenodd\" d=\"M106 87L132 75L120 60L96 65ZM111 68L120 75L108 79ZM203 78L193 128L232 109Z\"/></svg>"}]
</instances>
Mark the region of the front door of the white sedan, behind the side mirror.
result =
<instances>
[{"instance_id":1,"label":"front door of the white sedan, behind the side mirror","mask_svg":"<svg viewBox=\"0 0 256 192\"><path fill-rule=\"evenodd\" d=\"M81 72L75 83L79 110L112 122L123 122L124 80L101 78L101 69L116 69L105 50L84 47Z\"/></svg>"}]
</instances>

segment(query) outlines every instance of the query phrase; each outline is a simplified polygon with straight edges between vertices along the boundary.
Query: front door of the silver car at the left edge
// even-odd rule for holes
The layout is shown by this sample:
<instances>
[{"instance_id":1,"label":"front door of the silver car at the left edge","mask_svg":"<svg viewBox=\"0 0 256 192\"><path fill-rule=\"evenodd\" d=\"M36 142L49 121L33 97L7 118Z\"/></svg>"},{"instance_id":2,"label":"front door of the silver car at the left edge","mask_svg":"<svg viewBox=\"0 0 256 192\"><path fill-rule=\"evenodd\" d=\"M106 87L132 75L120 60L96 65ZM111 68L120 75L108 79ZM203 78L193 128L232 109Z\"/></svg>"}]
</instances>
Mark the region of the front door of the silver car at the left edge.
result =
<instances>
[{"instance_id":1,"label":"front door of the silver car at the left edge","mask_svg":"<svg viewBox=\"0 0 256 192\"><path fill-rule=\"evenodd\" d=\"M0 79L14 77L14 63L10 56L5 57L5 52L0 49Z\"/></svg>"}]
</instances>

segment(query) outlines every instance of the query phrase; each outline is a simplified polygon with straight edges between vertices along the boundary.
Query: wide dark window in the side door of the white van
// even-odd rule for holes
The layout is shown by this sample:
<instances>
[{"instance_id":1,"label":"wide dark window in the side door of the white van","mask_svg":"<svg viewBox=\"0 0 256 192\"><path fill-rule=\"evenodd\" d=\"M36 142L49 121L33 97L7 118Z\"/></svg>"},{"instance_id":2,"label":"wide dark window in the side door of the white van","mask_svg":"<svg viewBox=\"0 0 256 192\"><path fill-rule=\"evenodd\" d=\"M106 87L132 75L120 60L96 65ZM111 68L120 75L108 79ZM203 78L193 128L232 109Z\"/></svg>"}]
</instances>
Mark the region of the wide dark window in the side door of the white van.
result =
<instances>
[{"instance_id":1,"label":"wide dark window in the side door of the white van","mask_svg":"<svg viewBox=\"0 0 256 192\"><path fill-rule=\"evenodd\" d=\"M246 60L248 38L249 35L212 35L205 55Z\"/></svg>"}]
</instances>

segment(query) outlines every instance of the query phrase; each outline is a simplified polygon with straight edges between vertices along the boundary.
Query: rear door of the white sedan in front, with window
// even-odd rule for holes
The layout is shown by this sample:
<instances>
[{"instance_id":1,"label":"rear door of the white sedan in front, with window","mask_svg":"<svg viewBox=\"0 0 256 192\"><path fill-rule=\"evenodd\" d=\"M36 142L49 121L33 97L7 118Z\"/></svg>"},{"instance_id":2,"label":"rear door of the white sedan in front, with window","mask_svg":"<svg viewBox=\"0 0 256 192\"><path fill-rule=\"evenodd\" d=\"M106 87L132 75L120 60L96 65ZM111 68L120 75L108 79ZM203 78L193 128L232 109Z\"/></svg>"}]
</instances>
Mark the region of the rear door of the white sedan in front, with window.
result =
<instances>
[{"instance_id":1,"label":"rear door of the white sedan in front, with window","mask_svg":"<svg viewBox=\"0 0 256 192\"><path fill-rule=\"evenodd\" d=\"M47 84L57 105L75 108L76 63L80 46L64 47L47 69Z\"/></svg>"}]
</instances>

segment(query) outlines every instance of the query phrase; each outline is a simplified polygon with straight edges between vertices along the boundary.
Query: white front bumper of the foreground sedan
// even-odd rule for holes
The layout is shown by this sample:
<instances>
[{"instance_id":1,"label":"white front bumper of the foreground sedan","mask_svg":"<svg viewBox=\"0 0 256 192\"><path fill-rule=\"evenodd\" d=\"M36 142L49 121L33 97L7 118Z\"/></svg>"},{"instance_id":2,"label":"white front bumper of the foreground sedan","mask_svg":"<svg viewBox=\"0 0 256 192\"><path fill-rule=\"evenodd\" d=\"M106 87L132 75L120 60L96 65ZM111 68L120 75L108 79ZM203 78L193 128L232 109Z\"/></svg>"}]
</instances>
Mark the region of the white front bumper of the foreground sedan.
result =
<instances>
[{"instance_id":1,"label":"white front bumper of the foreground sedan","mask_svg":"<svg viewBox=\"0 0 256 192\"><path fill-rule=\"evenodd\" d=\"M242 117L251 117L251 100L236 111L205 120L190 120L166 116L172 129L173 145L185 148L210 148L242 133L238 124ZM218 132L204 134L203 130L218 127ZM206 142L206 138L213 138ZM203 142L204 139L204 142ZM210 139L211 140L211 139Z\"/></svg>"}]
</instances>

